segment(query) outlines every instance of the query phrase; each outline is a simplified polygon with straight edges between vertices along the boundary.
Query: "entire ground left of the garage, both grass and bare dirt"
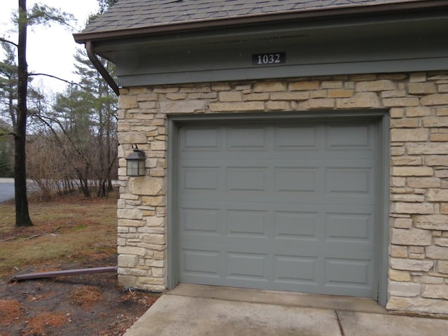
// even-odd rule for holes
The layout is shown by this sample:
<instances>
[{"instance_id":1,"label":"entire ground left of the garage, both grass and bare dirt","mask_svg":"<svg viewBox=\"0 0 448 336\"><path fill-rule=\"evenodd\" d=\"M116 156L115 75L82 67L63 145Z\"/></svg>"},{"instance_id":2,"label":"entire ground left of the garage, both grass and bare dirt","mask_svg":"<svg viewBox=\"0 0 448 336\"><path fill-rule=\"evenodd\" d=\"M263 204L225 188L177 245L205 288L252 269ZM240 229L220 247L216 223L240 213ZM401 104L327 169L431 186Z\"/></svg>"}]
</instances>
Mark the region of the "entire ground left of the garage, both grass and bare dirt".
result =
<instances>
[{"instance_id":1,"label":"entire ground left of the garage, both grass and bare dirt","mask_svg":"<svg viewBox=\"0 0 448 336\"><path fill-rule=\"evenodd\" d=\"M123 335L157 294L124 291L116 272L10 282L17 274L117 265L116 199L31 202L34 226L14 228L0 204L0 336Z\"/></svg>"}]
</instances>

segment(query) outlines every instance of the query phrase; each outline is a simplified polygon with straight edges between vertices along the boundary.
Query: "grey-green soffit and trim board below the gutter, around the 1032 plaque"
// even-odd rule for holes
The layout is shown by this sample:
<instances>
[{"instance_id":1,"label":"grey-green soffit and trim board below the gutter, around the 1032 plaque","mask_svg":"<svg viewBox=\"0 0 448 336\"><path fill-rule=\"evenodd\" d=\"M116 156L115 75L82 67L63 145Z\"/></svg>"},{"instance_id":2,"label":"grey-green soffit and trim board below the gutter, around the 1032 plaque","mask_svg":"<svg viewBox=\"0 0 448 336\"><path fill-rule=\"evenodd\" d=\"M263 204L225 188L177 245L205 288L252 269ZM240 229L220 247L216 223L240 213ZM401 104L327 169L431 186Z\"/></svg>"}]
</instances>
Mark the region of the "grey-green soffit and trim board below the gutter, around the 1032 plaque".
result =
<instances>
[{"instance_id":1,"label":"grey-green soffit and trim board below the gutter, around the 1032 plaque","mask_svg":"<svg viewBox=\"0 0 448 336\"><path fill-rule=\"evenodd\" d=\"M294 22L94 45L123 87L446 69L448 13ZM253 62L256 55L281 62Z\"/></svg>"}]
</instances>

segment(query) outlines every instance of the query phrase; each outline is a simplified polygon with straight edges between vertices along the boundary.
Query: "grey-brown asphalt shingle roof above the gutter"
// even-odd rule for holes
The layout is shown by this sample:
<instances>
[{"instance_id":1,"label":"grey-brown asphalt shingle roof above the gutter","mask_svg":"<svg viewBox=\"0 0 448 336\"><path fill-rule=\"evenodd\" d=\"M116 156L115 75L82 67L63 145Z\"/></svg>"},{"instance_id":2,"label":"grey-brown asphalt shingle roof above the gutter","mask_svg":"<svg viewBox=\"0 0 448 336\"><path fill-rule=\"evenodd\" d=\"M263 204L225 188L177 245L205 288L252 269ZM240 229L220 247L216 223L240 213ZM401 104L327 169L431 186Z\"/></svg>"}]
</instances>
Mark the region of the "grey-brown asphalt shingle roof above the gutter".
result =
<instances>
[{"instance_id":1,"label":"grey-brown asphalt shingle roof above the gutter","mask_svg":"<svg viewBox=\"0 0 448 336\"><path fill-rule=\"evenodd\" d=\"M120 0L83 33L415 0Z\"/></svg>"}]
</instances>

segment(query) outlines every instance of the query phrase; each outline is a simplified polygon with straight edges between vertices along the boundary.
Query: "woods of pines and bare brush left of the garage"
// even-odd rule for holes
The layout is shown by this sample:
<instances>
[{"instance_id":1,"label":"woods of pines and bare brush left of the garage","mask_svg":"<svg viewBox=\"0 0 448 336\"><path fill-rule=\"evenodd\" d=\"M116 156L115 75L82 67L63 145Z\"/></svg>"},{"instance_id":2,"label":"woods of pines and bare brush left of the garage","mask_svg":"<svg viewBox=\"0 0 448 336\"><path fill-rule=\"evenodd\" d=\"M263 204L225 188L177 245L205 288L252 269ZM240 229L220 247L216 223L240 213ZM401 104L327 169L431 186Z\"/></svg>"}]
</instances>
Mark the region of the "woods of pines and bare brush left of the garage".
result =
<instances>
[{"instance_id":1,"label":"woods of pines and bare brush left of the garage","mask_svg":"<svg viewBox=\"0 0 448 336\"><path fill-rule=\"evenodd\" d=\"M114 2L99 0L98 14ZM65 88L55 96L34 85L34 78L50 74L29 73L27 28L68 27L72 15L45 5L28 9L27 1L20 0L11 20L17 41L0 37L5 55L0 61L0 177L15 179L15 225L30 226L27 179L48 199L55 191L80 190L85 197L106 197L111 191L117 172L118 98L82 49L73 55L78 83L60 78ZM113 75L113 64L101 62Z\"/></svg>"}]
</instances>

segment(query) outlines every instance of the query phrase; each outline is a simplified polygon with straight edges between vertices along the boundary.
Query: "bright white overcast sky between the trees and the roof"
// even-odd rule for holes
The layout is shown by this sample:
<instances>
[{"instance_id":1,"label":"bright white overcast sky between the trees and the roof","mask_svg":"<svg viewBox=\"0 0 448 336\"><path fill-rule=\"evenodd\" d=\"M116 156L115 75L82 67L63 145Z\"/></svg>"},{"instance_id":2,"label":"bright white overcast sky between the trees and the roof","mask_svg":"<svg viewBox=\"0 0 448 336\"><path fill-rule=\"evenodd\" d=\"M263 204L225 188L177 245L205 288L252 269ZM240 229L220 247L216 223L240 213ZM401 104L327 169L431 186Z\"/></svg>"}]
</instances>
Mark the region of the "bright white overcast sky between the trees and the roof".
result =
<instances>
[{"instance_id":1,"label":"bright white overcast sky between the trees and the roof","mask_svg":"<svg viewBox=\"0 0 448 336\"><path fill-rule=\"evenodd\" d=\"M9 37L13 42L17 42L17 37L11 35L8 30L13 28L10 24L11 13L17 10L19 1L0 1L0 36ZM73 14L77 22L73 22L75 29L66 29L59 25L28 28L27 59L29 71L48 73L67 80L75 80L73 55L75 55L77 47L84 47L75 43L71 34L82 30L85 27L88 15L97 12L97 0L28 0L27 7L31 8L34 3L60 8L66 13ZM3 54L0 56L3 59ZM40 79L36 78L33 83L38 81ZM66 85L59 80L49 79L45 79L42 84L52 91L63 90Z\"/></svg>"}]
</instances>

